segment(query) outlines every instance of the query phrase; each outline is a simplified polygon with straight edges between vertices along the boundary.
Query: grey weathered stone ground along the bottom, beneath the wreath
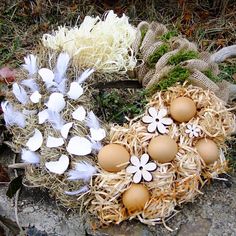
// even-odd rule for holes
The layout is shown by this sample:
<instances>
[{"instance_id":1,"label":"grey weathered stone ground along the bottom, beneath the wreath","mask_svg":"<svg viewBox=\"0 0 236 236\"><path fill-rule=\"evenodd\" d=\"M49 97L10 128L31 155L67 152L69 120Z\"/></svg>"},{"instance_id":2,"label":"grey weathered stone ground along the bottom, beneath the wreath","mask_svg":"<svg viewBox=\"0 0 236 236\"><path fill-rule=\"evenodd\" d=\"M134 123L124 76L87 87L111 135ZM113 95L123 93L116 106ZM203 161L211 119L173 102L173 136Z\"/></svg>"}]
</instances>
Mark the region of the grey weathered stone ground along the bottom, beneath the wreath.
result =
<instances>
[{"instance_id":1,"label":"grey weathered stone ground along the bottom, beneath the wreath","mask_svg":"<svg viewBox=\"0 0 236 236\"><path fill-rule=\"evenodd\" d=\"M4 149L0 153L0 162L12 160L11 155ZM24 188L21 191L18 201L19 223L28 229L29 236L233 236L236 235L236 175L229 180L228 184L213 182L204 188L203 196L194 203L184 205L167 222L173 232L162 225L146 226L137 221L93 230L89 217L67 212L50 199L47 192L37 188ZM6 197L6 190L7 186L0 185L0 236L19 235L14 200Z\"/></svg>"}]
</instances>

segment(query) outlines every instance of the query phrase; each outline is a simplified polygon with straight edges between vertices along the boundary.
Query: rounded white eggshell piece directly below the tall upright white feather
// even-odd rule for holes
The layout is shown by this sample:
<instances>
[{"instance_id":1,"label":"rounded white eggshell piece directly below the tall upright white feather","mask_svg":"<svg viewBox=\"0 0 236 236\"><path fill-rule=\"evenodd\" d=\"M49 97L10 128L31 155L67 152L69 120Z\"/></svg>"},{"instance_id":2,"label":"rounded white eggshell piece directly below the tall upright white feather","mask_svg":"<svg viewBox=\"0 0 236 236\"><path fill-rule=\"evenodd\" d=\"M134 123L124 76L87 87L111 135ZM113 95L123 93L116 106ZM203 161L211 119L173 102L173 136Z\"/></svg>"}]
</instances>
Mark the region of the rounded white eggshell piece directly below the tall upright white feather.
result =
<instances>
[{"instance_id":1,"label":"rounded white eggshell piece directly below the tall upright white feather","mask_svg":"<svg viewBox=\"0 0 236 236\"><path fill-rule=\"evenodd\" d=\"M64 109L66 105L63 94L61 93L52 93L49 97L49 100L46 104L49 110L60 112Z\"/></svg>"}]
</instances>

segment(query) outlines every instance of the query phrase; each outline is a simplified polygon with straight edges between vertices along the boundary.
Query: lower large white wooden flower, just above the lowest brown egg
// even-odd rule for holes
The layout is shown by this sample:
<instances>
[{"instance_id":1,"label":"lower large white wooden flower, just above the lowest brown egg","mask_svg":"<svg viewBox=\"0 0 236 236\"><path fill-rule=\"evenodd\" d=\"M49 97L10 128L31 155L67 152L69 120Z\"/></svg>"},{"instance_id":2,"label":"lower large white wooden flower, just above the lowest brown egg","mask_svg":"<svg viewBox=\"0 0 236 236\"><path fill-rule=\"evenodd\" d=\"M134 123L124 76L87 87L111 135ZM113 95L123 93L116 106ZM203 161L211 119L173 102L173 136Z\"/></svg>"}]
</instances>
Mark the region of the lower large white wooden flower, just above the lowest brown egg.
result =
<instances>
[{"instance_id":1,"label":"lower large white wooden flower, just above the lowest brown egg","mask_svg":"<svg viewBox=\"0 0 236 236\"><path fill-rule=\"evenodd\" d=\"M142 178L145 181L152 180L152 175L149 172L154 171L157 168L157 165L154 162L149 162L148 154L143 154L140 159L136 156L131 156L130 162L132 165L129 165L126 168L126 172L134 174L134 183L139 183Z\"/></svg>"}]
</instances>

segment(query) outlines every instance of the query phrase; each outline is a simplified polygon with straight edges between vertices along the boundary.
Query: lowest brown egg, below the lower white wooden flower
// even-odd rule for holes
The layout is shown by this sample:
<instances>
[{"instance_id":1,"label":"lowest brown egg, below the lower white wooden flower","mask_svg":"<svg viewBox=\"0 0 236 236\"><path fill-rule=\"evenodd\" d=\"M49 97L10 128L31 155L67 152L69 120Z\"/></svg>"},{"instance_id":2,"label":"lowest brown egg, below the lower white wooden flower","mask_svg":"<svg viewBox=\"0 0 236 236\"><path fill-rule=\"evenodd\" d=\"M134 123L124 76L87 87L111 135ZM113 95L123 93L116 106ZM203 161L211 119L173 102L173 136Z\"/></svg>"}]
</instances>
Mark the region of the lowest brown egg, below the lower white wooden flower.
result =
<instances>
[{"instance_id":1,"label":"lowest brown egg, below the lower white wooden flower","mask_svg":"<svg viewBox=\"0 0 236 236\"><path fill-rule=\"evenodd\" d=\"M143 184L132 184L130 188L124 192L122 201L129 212L135 212L143 210L149 198L149 192Z\"/></svg>"}]
</instances>

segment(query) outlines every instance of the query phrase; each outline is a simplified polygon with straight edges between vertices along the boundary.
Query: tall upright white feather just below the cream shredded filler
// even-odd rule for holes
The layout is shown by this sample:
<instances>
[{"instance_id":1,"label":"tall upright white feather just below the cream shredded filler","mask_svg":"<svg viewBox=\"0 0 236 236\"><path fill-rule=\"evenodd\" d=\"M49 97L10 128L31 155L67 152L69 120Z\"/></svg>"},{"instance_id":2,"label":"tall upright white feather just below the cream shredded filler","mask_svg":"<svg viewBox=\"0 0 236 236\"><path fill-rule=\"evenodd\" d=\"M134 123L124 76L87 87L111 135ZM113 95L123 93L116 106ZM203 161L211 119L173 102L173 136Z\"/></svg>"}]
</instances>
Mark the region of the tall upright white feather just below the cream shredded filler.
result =
<instances>
[{"instance_id":1,"label":"tall upright white feather just below the cream shredded filler","mask_svg":"<svg viewBox=\"0 0 236 236\"><path fill-rule=\"evenodd\" d=\"M69 61L70 61L70 56L67 53L60 53L60 55L57 58L54 80L58 84L60 84L65 77Z\"/></svg>"}]
</instances>

